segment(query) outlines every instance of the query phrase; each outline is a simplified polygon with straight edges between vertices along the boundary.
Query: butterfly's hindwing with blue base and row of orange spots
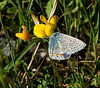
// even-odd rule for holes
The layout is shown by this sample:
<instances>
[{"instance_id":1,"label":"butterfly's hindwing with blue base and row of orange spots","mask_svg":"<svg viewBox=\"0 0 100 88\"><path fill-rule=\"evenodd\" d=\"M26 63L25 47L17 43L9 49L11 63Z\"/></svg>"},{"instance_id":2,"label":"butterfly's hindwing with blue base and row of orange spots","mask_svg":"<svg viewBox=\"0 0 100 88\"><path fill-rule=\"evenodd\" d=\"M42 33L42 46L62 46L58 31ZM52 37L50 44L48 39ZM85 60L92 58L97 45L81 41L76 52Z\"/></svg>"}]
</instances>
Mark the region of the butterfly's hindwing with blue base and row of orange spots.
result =
<instances>
[{"instance_id":1,"label":"butterfly's hindwing with blue base and row of orange spots","mask_svg":"<svg viewBox=\"0 0 100 88\"><path fill-rule=\"evenodd\" d=\"M71 56L71 54L65 53L65 51L62 49L62 38L63 37L58 32L53 33L50 36L48 52L51 59L65 60Z\"/></svg>"}]
</instances>

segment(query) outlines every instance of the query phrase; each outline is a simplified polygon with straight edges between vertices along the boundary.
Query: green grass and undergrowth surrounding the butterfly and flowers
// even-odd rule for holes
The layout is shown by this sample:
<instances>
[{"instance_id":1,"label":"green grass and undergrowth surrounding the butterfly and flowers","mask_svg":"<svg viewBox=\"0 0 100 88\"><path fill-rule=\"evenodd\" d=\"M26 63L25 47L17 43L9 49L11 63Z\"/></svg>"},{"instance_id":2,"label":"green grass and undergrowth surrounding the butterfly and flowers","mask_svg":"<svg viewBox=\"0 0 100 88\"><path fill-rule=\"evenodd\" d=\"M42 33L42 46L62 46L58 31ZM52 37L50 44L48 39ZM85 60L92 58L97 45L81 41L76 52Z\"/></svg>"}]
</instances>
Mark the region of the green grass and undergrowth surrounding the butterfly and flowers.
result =
<instances>
[{"instance_id":1,"label":"green grass and undergrowth surrounding the butterfly and flowers","mask_svg":"<svg viewBox=\"0 0 100 88\"><path fill-rule=\"evenodd\" d=\"M67 62L47 61L45 57L38 57L38 52L34 55L38 43L41 44L37 50L43 48L48 52L48 42L44 39L33 38L24 42L15 37L15 33L22 31L22 25L34 35L35 24L29 11L37 18L44 15L48 19L52 6L53 0L0 2L0 38L5 39L0 40L0 88L100 87L100 50L97 47L100 44L99 0L58 0L54 14L59 17L66 14L58 21L55 31L77 37L87 44ZM16 48L12 48L10 40L16 41ZM3 55L4 48L1 46L4 44L8 44L9 56ZM27 69L32 58L32 65Z\"/></svg>"}]
</instances>

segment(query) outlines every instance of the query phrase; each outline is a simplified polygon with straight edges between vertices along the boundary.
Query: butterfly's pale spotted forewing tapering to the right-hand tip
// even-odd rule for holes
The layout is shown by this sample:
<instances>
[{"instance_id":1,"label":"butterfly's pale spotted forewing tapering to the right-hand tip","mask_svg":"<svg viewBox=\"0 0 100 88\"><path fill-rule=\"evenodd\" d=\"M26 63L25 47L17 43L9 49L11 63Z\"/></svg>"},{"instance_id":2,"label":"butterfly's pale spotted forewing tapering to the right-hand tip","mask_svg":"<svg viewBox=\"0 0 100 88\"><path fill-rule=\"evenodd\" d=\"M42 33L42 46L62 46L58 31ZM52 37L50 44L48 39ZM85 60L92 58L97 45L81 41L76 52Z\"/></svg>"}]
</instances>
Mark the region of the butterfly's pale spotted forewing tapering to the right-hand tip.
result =
<instances>
[{"instance_id":1,"label":"butterfly's pale spotted forewing tapering to the right-hand tip","mask_svg":"<svg viewBox=\"0 0 100 88\"><path fill-rule=\"evenodd\" d=\"M76 53L80 50L82 50L86 44L74 37L71 37L69 35L65 35L60 33L61 36L63 36L63 40L61 41L62 43L62 49L65 51L67 54L73 54Z\"/></svg>"}]
</instances>

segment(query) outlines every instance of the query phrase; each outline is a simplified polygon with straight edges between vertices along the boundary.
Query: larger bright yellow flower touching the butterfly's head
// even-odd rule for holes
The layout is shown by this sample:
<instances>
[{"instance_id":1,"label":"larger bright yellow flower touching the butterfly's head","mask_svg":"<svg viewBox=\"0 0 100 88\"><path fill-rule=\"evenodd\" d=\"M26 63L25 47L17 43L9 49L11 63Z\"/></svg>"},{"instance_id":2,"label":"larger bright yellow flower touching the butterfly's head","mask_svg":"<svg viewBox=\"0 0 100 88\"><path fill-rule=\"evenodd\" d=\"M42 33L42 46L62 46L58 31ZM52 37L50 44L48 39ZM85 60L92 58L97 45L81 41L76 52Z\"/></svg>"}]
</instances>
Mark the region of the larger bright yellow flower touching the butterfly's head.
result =
<instances>
[{"instance_id":1,"label":"larger bright yellow flower touching the butterfly's head","mask_svg":"<svg viewBox=\"0 0 100 88\"><path fill-rule=\"evenodd\" d=\"M40 20L44 22L45 24L37 24L34 26L34 35L36 35L39 38L45 38L49 37L53 34L54 29L57 26L59 17L58 16L53 16L49 22L47 22L46 18L41 15Z\"/></svg>"}]
</instances>

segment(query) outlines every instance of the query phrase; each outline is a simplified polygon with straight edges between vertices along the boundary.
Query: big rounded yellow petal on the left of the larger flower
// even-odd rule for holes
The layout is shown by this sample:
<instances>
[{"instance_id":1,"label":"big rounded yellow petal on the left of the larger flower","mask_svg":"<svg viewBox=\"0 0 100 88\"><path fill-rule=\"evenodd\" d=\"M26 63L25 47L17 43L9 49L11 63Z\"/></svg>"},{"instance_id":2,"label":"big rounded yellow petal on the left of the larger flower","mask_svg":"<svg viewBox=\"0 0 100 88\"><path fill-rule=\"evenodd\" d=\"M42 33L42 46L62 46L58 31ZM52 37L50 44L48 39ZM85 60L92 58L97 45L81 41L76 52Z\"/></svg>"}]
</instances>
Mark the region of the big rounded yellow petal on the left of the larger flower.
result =
<instances>
[{"instance_id":1,"label":"big rounded yellow petal on the left of the larger flower","mask_svg":"<svg viewBox=\"0 0 100 88\"><path fill-rule=\"evenodd\" d=\"M39 38L45 38L47 37L45 34L45 27L46 25L44 24L38 24L34 26L34 35L39 37Z\"/></svg>"}]
</instances>

